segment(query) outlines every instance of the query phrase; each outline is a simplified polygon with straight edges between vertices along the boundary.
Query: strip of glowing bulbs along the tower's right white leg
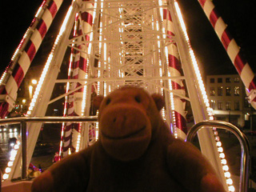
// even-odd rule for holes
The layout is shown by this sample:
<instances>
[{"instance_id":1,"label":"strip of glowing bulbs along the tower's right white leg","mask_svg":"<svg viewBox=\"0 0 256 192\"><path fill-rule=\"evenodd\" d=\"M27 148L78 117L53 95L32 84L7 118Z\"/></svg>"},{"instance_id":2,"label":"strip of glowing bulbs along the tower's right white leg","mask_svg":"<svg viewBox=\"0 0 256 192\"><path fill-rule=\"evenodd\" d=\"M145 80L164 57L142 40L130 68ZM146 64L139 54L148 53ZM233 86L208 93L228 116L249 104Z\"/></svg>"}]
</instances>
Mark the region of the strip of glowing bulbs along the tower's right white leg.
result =
<instances>
[{"instance_id":1,"label":"strip of glowing bulbs along the tower's right white leg","mask_svg":"<svg viewBox=\"0 0 256 192\"><path fill-rule=\"evenodd\" d=\"M210 104L209 104L209 100L207 98L206 89L205 89L205 86L202 82L202 76L201 76L200 70L198 68L198 62L196 61L196 58L194 56L194 51L192 50L192 47L190 45L190 39L189 39L188 34L186 32L186 25L185 25L185 22L183 21L181 10L179 9L178 2L176 2L175 0L174 0L174 6L175 6L176 12L178 14L179 22L182 26L182 31L183 31L183 34L186 38L187 45L188 45L189 50L190 50L190 58L192 60L193 66L194 66L194 71L196 73L196 76L198 78L198 83L199 83L200 90L201 90L201 93L202 93L202 98L205 102L209 118L210 118L210 120L212 120L214 117L211 114L212 110L210 109ZM222 169L224 171L224 175L225 175L225 177L230 176L230 172L228 171L229 167L226 165L225 154L223 153L222 144L219 141L218 132L216 131L216 129L213 129L213 130L214 130L216 145L218 147L219 157L221 158L221 162L222 162ZM226 183L229 185L229 187L228 187L229 191L233 192L234 191L234 186L232 186L233 181L230 177L226 177Z\"/></svg>"}]
</instances>

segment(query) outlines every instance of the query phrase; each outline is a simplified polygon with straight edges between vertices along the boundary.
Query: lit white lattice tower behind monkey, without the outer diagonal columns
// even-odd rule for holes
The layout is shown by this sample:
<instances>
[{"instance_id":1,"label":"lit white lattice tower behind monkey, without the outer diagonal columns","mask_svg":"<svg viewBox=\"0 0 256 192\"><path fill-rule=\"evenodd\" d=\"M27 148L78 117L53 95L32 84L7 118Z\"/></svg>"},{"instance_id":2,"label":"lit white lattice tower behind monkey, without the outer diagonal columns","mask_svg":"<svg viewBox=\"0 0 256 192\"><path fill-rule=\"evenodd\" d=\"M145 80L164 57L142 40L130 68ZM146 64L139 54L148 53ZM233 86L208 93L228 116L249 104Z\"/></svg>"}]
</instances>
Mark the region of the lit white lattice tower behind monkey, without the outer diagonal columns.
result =
<instances>
[{"instance_id":1,"label":"lit white lattice tower behind monkey, without the outer diagonal columns","mask_svg":"<svg viewBox=\"0 0 256 192\"><path fill-rule=\"evenodd\" d=\"M106 95L122 85L142 86L150 94L164 96L166 106L162 116L175 137L185 138L185 101L191 102L195 122L210 116L200 70L179 14L174 0L74 0L54 42L28 114L44 116L46 103L66 97L64 115L90 115L95 94ZM71 50L69 78L57 79L67 49ZM67 90L66 94L50 101L53 82L66 82ZM62 126L62 156L72 146L81 150L95 140L91 135L97 124L82 123L73 130L69 130L69 126ZM41 123L28 126L28 162L40 128ZM200 131L198 136L202 152L226 183L213 131ZM10 178L18 177L20 158L18 150Z\"/></svg>"}]
</instances>

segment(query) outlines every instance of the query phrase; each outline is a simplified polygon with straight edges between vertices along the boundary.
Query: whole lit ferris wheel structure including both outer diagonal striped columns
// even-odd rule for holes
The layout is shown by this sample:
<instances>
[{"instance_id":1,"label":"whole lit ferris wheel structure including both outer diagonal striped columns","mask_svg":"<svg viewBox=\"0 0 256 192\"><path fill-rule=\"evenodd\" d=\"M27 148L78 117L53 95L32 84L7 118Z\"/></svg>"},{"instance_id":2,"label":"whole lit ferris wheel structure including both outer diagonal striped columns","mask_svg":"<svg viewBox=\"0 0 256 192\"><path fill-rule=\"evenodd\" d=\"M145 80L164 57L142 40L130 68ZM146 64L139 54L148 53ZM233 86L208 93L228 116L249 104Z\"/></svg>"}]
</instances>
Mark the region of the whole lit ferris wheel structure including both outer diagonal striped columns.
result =
<instances>
[{"instance_id":1,"label":"whole lit ferris wheel structure including both outer diagonal striped columns","mask_svg":"<svg viewBox=\"0 0 256 192\"><path fill-rule=\"evenodd\" d=\"M253 106L255 100L254 73L242 62L233 38L227 35L226 24L214 10L210 0L198 1L227 54L249 90ZM45 0L26 31L22 42L1 78L1 117L14 107L21 85L39 46L58 13L62 0ZM67 71L60 71L65 55L69 55ZM59 79L66 73L66 79ZM51 98L54 86L66 83L66 93ZM166 106L162 118L176 138L186 139L186 106L193 111L194 122L213 119L212 110L202 82L190 38L176 0L73 0L58 32L54 46L42 70L38 86L31 99L29 117L44 117L50 103L65 98L64 117L94 116L94 96L106 96L119 86L141 86L150 94L162 94ZM28 126L28 158L42 123ZM60 157L84 149L97 140L98 123L63 123ZM202 153L209 158L226 189L234 191L223 170L222 151L216 130L198 133ZM219 158L221 156L221 158ZM10 178L20 174L17 153Z\"/></svg>"}]
</instances>

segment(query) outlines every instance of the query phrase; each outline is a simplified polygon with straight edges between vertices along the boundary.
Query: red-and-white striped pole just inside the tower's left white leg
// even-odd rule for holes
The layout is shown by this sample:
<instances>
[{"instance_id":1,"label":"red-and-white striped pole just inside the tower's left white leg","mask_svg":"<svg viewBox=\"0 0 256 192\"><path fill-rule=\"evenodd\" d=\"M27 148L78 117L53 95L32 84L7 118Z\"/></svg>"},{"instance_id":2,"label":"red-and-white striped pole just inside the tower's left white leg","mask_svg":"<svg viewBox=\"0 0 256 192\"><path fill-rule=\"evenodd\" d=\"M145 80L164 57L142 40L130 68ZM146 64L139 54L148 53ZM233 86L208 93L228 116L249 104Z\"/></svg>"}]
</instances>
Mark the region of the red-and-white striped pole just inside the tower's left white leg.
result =
<instances>
[{"instance_id":1,"label":"red-and-white striped pole just inside the tower's left white leg","mask_svg":"<svg viewBox=\"0 0 256 192\"><path fill-rule=\"evenodd\" d=\"M92 3L86 3L86 8L94 8ZM80 18L80 19L79 19ZM92 25L93 25L93 10L82 12L80 15L77 14L76 25L74 29L74 37L79 37L79 40L82 42L89 41ZM83 39L85 38L85 39ZM79 51L83 50L83 51ZM86 78L86 74L88 74L88 61L87 55L85 52L88 50L88 44L81 44L78 46L78 50L73 49L71 56L74 61L71 63L72 65L72 77L73 79L84 79ZM70 90L76 89L78 86L81 86L79 82L74 82L70 86ZM67 115L68 116L81 116L82 115L82 95L83 92L86 91L84 88L75 91L73 94L68 96L68 105L67 105ZM77 101L75 100L77 99ZM78 101L79 100L79 101ZM75 104L74 104L75 102ZM66 157L68 155L68 150L71 149L71 152L77 150L79 136L81 134L81 123L69 123L66 124L62 130L65 132L62 138L62 146L60 148L60 156Z\"/></svg>"}]
</instances>

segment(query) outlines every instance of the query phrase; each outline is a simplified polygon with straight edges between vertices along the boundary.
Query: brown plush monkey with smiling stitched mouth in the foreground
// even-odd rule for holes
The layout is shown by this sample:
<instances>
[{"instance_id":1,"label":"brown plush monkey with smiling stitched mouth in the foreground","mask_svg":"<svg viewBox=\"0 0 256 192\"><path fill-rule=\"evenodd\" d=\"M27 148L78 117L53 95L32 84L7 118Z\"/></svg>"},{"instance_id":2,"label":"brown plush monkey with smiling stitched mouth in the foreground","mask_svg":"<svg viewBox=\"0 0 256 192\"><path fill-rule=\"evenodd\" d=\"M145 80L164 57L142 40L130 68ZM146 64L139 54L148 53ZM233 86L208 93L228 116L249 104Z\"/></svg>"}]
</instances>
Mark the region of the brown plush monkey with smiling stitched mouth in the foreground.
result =
<instances>
[{"instance_id":1,"label":"brown plush monkey with smiling stitched mouth in the foreground","mask_svg":"<svg viewBox=\"0 0 256 192\"><path fill-rule=\"evenodd\" d=\"M170 134L163 105L158 94L133 86L95 98L98 142L51 166L32 191L224 192L201 152Z\"/></svg>"}]
</instances>

